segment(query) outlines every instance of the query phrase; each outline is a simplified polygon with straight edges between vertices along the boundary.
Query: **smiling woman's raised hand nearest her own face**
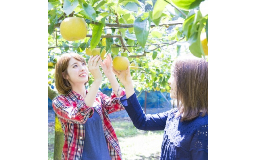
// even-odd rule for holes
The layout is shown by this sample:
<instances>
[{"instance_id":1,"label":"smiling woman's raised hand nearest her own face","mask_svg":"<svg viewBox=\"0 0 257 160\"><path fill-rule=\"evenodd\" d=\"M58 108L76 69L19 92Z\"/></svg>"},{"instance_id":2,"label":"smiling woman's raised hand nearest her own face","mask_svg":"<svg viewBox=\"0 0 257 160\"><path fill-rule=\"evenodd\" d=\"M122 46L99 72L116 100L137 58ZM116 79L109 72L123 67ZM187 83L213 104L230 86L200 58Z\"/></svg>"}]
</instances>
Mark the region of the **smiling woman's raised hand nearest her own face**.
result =
<instances>
[{"instance_id":1,"label":"smiling woman's raised hand nearest her own face","mask_svg":"<svg viewBox=\"0 0 257 160\"><path fill-rule=\"evenodd\" d=\"M92 76L94 77L94 81L102 81L103 76L102 72L100 71L100 55L91 56L88 60L88 70L91 72Z\"/></svg>"}]
</instances>

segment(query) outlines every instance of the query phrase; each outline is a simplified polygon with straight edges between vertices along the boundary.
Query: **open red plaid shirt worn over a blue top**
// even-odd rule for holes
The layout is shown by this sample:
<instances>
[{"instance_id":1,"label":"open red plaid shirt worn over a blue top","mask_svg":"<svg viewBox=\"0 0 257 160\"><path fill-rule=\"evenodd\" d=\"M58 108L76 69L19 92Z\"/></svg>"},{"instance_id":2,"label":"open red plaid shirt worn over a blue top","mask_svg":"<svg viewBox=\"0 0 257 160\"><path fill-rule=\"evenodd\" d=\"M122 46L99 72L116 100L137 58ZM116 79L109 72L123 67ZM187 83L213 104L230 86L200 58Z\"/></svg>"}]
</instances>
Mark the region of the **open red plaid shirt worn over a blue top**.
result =
<instances>
[{"instance_id":1,"label":"open red plaid shirt worn over a blue top","mask_svg":"<svg viewBox=\"0 0 257 160\"><path fill-rule=\"evenodd\" d=\"M121 96L123 95L125 95L124 89L121 93ZM122 160L119 142L108 115L124 110L119 101L120 97L116 97L113 92L111 97L99 92L96 95L93 107L86 106L81 95L72 90L68 91L66 95L59 95L53 99L53 110L57 114L64 132L62 160L81 160L85 123L88 118L92 117L94 111L97 111L102 119L103 130L112 160Z\"/></svg>"}]
</instances>

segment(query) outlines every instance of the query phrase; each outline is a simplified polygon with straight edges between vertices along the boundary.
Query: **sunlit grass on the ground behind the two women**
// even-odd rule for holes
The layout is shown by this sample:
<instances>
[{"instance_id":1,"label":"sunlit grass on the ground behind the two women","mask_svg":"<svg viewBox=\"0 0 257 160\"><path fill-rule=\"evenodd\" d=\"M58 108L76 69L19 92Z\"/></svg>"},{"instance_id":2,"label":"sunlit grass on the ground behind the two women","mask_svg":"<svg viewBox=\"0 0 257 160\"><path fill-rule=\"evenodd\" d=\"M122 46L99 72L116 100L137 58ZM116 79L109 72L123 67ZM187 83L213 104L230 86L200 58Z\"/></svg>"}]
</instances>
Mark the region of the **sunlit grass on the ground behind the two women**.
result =
<instances>
[{"instance_id":1,"label":"sunlit grass on the ground behind the two women","mask_svg":"<svg viewBox=\"0 0 257 160\"><path fill-rule=\"evenodd\" d=\"M164 131L142 131L129 117L111 119L123 160L159 160ZM54 123L48 129L48 159L53 160Z\"/></svg>"}]
</instances>

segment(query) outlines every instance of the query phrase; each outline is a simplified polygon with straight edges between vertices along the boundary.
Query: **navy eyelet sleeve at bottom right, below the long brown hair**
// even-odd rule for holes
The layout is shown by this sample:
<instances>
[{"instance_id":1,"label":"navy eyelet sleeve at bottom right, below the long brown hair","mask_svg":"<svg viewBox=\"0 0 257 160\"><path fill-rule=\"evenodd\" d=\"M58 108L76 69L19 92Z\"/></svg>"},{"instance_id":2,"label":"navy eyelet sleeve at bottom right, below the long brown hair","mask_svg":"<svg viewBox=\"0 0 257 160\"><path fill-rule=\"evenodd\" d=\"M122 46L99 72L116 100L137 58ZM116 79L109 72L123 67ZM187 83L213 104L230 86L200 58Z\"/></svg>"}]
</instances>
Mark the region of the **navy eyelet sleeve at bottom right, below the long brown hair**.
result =
<instances>
[{"instance_id":1,"label":"navy eyelet sleeve at bottom right, below the long brown hair","mask_svg":"<svg viewBox=\"0 0 257 160\"><path fill-rule=\"evenodd\" d=\"M193 160L208 160L208 124L200 126L196 130L191 141L190 151Z\"/></svg>"}]
</instances>

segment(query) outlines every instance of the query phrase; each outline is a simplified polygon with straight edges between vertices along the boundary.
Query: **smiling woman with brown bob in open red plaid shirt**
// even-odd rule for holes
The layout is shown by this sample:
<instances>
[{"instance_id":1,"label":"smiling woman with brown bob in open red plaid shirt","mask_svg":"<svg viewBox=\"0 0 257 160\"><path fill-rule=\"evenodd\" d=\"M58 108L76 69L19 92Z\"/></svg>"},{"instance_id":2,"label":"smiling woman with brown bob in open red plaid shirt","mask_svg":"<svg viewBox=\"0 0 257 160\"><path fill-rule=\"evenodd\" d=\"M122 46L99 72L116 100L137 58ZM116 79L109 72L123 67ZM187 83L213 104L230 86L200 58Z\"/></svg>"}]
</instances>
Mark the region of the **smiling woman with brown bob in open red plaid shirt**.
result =
<instances>
[{"instance_id":1,"label":"smiling woman with brown bob in open red plaid shirt","mask_svg":"<svg viewBox=\"0 0 257 160\"><path fill-rule=\"evenodd\" d=\"M113 92L98 92L102 73L111 83ZM85 88L89 72L94 81ZM112 72L112 58L102 61L91 56L88 66L77 53L65 53L55 66L56 89L61 94L53 99L53 110L62 125L64 145L62 160L121 160L117 136L108 114L124 110L119 99L125 94Z\"/></svg>"}]
</instances>

